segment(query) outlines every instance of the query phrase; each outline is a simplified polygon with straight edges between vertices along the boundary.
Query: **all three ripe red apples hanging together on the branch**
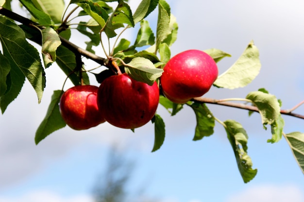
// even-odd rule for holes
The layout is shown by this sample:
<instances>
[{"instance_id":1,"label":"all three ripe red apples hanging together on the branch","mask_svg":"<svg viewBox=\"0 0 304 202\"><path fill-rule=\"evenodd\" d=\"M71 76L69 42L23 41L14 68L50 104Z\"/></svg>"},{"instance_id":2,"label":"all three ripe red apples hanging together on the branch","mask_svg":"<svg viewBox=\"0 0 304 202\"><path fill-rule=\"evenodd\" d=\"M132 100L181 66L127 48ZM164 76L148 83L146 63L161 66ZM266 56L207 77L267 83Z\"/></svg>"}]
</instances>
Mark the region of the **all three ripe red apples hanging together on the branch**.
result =
<instances>
[{"instance_id":1,"label":"all three ripe red apples hanging together on the branch","mask_svg":"<svg viewBox=\"0 0 304 202\"><path fill-rule=\"evenodd\" d=\"M172 102L186 103L207 93L218 77L216 62L200 50L186 50L164 67L160 85ZM157 82L152 86L126 73L110 76L100 87L74 86L63 93L59 108L65 122L75 130L108 123L134 129L147 124L159 102Z\"/></svg>"}]
</instances>

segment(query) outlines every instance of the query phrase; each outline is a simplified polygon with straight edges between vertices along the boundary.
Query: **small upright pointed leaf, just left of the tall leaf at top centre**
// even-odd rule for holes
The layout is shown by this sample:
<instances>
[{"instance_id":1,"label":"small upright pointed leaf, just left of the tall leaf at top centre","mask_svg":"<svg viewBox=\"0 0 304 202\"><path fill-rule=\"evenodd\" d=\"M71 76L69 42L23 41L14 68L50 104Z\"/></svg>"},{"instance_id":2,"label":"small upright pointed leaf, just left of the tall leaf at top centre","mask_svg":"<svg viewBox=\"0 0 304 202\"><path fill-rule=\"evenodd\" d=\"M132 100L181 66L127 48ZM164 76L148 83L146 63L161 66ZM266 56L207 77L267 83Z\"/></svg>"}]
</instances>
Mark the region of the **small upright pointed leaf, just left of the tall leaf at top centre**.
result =
<instances>
[{"instance_id":1,"label":"small upright pointed leaf, just left of the tall leaf at top centre","mask_svg":"<svg viewBox=\"0 0 304 202\"><path fill-rule=\"evenodd\" d=\"M155 41L154 33L147 20L140 21L140 29L134 43L135 47L152 46Z\"/></svg>"}]
</instances>

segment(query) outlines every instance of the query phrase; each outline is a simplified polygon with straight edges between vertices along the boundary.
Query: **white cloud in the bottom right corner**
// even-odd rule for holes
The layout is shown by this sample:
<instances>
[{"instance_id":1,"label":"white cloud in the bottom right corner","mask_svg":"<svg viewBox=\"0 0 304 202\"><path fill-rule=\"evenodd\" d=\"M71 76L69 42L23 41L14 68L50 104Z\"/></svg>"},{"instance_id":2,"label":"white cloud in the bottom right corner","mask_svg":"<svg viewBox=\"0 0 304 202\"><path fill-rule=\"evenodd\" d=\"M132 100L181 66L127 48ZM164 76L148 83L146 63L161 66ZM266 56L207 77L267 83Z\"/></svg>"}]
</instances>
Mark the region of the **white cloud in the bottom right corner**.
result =
<instances>
[{"instance_id":1,"label":"white cloud in the bottom right corner","mask_svg":"<svg viewBox=\"0 0 304 202\"><path fill-rule=\"evenodd\" d=\"M226 202L303 202L303 191L296 185L251 186L230 196Z\"/></svg>"}]
</instances>

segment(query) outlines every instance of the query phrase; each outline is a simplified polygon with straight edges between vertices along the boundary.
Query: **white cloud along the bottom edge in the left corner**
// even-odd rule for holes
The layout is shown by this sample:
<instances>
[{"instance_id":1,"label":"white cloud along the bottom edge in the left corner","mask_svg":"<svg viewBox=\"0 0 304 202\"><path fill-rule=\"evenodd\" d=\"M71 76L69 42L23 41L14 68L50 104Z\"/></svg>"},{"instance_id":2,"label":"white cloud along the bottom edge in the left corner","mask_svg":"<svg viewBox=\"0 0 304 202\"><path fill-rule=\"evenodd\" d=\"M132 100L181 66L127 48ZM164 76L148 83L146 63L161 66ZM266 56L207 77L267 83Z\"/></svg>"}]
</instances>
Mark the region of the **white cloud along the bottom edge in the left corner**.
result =
<instances>
[{"instance_id":1,"label":"white cloud along the bottom edge in the left corner","mask_svg":"<svg viewBox=\"0 0 304 202\"><path fill-rule=\"evenodd\" d=\"M93 202L87 195L63 197L50 191L34 191L22 196L1 197L0 202Z\"/></svg>"}]
</instances>

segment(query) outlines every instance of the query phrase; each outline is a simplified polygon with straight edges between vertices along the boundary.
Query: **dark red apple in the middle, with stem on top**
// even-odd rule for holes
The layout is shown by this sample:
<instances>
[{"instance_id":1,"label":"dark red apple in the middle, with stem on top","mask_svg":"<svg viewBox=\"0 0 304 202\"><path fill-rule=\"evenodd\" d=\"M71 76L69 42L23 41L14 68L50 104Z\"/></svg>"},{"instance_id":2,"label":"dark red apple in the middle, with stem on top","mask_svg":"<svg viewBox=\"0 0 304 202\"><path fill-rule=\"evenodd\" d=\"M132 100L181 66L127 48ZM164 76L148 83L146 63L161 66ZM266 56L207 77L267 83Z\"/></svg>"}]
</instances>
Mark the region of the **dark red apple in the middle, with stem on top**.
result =
<instances>
[{"instance_id":1,"label":"dark red apple in the middle, with stem on top","mask_svg":"<svg viewBox=\"0 0 304 202\"><path fill-rule=\"evenodd\" d=\"M97 93L104 119L120 128L137 128L154 116L159 101L157 83L152 86L130 78L126 73L106 78Z\"/></svg>"}]
</instances>

